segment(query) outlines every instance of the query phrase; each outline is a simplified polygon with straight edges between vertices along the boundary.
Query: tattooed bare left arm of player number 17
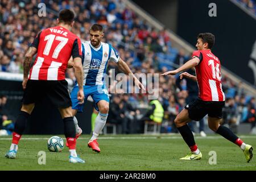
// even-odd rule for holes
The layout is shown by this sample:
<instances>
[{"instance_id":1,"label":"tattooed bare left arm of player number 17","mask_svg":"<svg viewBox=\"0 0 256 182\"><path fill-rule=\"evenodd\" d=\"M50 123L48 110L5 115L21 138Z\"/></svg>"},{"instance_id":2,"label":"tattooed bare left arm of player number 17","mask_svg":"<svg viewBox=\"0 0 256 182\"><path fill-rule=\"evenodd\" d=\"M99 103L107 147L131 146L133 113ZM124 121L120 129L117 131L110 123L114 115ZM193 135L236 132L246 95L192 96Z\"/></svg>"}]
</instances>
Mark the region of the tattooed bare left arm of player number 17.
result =
<instances>
[{"instance_id":1,"label":"tattooed bare left arm of player number 17","mask_svg":"<svg viewBox=\"0 0 256 182\"><path fill-rule=\"evenodd\" d=\"M25 89L26 85L27 85L28 71L30 70L30 64L31 64L32 57L36 54L37 51L38 51L38 49L36 49L33 46L30 46L30 48L28 48L28 51L24 57L23 82L22 82L23 89Z\"/></svg>"}]
</instances>

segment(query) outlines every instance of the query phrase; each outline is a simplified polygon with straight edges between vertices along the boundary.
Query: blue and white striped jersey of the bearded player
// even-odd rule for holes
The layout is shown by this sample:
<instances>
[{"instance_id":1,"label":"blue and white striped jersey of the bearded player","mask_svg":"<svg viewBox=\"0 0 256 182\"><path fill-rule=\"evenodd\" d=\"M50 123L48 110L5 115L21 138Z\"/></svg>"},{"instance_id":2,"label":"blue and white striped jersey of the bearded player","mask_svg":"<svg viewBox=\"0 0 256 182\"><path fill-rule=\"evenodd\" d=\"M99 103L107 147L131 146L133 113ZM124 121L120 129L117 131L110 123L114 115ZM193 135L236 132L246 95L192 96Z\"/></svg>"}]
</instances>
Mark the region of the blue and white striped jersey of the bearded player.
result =
<instances>
[{"instance_id":1,"label":"blue and white striped jersey of the bearded player","mask_svg":"<svg viewBox=\"0 0 256 182\"><path fill-rule=\"evenodd\" d=\"M110 44L101 42L101 46L95 48L90 44L90 41L83 42L83 85L104 85L104 73L106 73L109 60L113 60L115 63L119 61L117 51Z\"/></svg>"}]
</instances>

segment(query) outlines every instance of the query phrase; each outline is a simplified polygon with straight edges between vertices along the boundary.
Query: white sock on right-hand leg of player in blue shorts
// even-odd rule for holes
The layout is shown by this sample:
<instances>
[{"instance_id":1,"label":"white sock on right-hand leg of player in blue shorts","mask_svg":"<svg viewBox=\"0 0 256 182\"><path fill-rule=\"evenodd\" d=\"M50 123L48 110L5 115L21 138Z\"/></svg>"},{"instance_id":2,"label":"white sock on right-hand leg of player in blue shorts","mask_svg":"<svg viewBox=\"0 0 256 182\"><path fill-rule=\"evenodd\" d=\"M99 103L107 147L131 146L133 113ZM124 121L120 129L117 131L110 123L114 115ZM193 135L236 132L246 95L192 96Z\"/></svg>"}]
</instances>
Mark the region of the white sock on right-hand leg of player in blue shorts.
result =
<instances>
[{"instance_id":1,"label":"white sock on right-hand leg of player in blue shorts","mask_svg":"<svg viewBox=\"0 0 256 182\"><path fill-rule=\"evenodd\" d=\"M102 129L104 128L104 126L106 124L107 118L108 118L108 114L98 113L96 121L95 121L93 135L92 135L92 138L90 138L90 140L95 140L98 138L98 135L100 135Z\"/></svg>"}]
</instances>

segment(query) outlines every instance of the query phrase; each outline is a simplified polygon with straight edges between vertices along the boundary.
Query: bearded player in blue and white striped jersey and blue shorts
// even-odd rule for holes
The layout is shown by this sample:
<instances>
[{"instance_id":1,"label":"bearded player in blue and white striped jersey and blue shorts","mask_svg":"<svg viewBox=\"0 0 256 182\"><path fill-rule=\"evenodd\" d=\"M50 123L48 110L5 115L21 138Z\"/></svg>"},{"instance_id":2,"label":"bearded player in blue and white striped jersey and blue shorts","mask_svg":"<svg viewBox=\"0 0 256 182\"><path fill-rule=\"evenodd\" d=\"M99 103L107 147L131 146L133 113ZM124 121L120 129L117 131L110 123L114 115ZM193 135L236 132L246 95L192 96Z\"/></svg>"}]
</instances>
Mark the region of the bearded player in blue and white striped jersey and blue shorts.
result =
<instances>
[{"instance_id":1,"label":"bearded player in blue and white striped jersey and blue shorts","mask_svg":"<svg viewBox=\"0 0 256 182\"><path fill-rule=\"evenodd\" d=\"M82 43L82 64L84 68L84 96L85 101L88 96L92 96L94 101L94 107L99 111L96 118L94 131L92 138L88 142L88 147L92 148L93 151L100 152L100 147L98 146L98 135L101 133L105 126L106 119L109 112L109 94L108 88L105 86L104 73L106 73L106 68L108 61L114 61L117 63L118 68L121 69L127 75L130 74L134 78L134 84L138 86L139 89L144 89L142 83L137 77L131 72L128 65L123 61L117 51L108 43L101 42L104 37L104 30L100 24L93 24L90 27L90 41ZM69 61L69 67L72 67L72 59ZM74 115L74 122L76 126L78 138L82 131L77 125L77 119L75 117L77 111L82 112L84 104L79 104L77 100L77 90L78 86L72 90L71 100L72 109Z\"/></svg>"}]
</instances>

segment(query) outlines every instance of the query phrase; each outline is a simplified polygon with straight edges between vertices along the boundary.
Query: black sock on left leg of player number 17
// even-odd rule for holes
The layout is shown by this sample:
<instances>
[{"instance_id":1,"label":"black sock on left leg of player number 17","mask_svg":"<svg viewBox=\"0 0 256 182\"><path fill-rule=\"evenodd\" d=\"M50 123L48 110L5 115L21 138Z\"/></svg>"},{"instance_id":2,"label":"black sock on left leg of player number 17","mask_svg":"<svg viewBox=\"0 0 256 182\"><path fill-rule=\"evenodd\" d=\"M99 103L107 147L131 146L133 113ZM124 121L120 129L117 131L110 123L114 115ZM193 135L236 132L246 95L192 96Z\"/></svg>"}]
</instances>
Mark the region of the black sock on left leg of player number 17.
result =
<instances>
[{"instance_id":1,"label":"black sock on left leg of player number 17","mask_svg":"<svg viewBox=\"0 0 256 182\"><path fill-rule=\"evenodd\" d=\"M15 126L14 126L14 132L22 135L24 130L26 129L27 125L27 119L30 117L30 114L20 111L18 118L16 119Z\"/></svg>"}]
</instances>

